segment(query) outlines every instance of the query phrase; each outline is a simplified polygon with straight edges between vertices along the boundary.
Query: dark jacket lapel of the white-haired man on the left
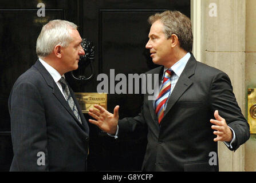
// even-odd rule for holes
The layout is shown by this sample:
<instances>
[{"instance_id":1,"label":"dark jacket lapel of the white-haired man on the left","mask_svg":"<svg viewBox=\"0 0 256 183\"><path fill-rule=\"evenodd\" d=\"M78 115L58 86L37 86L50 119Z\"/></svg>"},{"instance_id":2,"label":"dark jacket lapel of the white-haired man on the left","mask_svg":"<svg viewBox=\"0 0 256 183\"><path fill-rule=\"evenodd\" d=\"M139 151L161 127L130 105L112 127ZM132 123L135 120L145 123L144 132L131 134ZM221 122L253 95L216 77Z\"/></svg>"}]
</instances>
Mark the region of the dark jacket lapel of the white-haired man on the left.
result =
<instances>
[{"instance_id":1,"label":"dark jacket lapel of the white-haired man on the left","mask_svg":"<svg viewBox=\"0 0 256 183\"><path fill-rule=\"evenodd\" d=\"M42 63L39 60L37 60L37 62L34 64L34 67L36 67L40 71L42 76L45 78L45 82L48 84L49 87L52 88L52 92L53 92L54 96L58 99L58 101L61 103L61 105L63 105L64 108L69 112L69 114L74 118L74 120L76 120L77 124L80 125L81 128L84 129L84 126L81 125L80 122L77 120L77 118L74 115L72 109L70 108L68 102L65 100L60 89L58 88L56 82L53 80L52 76L45 69L45 67L42 65ZM73 93L73 92L70 92L70 93ZM72 97L73 97L73 94L72 94ZM76 101L76 100L74 99L74 101ZM77 103L76 103L76 105L77 105ZM81 118L81 120L82 120L82 118ZM84 121L84 120L82 120L82 121Z\"/></svg>"}]
</instances>

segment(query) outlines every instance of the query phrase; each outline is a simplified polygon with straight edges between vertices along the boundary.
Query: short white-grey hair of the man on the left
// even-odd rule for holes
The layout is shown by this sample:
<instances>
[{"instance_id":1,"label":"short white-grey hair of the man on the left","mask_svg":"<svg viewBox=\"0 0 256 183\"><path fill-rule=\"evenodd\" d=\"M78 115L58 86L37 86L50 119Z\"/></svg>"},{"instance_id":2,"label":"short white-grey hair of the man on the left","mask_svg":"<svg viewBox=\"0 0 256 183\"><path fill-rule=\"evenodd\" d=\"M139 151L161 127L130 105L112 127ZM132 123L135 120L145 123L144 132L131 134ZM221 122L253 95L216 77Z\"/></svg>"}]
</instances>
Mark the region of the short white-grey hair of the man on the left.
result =
<instances>
[{"instance_id":1,"label":"short white-grey hair of the man on the left","mask_svg":"<svg viewBox=\"0 0 256 183\"><path fill-rule=\"evenodd\" d=\"M56 45L68 46L72 41L70 29L77 29L77 25L61 19L55 19L44 25L37 38L37 56L46 57L52 53Z\"/></svg>"}]
</instances>

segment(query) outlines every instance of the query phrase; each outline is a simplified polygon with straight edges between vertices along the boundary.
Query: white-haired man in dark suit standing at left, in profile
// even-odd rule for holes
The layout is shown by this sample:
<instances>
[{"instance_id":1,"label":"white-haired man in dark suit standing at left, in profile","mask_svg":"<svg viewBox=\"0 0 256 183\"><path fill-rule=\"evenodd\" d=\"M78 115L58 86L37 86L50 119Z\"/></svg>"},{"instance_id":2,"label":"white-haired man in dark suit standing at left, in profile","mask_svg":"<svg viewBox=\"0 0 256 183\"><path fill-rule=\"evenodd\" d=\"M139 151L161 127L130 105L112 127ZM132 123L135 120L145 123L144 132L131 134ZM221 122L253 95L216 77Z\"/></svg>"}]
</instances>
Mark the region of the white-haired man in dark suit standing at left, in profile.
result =
<instances>
[{"instance_id":1,"label":"white-haired man in dark suit standing at left, in profile","mask_svg":"<svg viewBox=\"0 0 256 183\"><path fill-rule=\"evenodd\" d=\"M9 97L13 162L10 171L85 171L89 126L64 74L78 68L77 26L54 20L42 27L36 63Z\"/></svg>"}]
</instances>

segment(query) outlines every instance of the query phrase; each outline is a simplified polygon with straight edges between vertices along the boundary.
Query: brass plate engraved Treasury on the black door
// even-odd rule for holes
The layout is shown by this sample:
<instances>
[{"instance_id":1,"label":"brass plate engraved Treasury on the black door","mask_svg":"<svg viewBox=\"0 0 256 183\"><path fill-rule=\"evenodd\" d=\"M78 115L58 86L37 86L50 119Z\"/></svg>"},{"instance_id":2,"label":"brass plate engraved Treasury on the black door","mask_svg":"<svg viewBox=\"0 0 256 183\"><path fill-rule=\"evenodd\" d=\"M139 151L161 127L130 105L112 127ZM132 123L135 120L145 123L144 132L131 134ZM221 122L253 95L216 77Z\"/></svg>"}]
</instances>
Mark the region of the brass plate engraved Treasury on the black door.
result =
<instances>
[{"instance_id":1,"label":"brass plate engraved Treasury on the black door","mask_svg":"<svg viewBox=\"0 0 256 183\"><path fill-rule=\"evenodd\" d=\"M107 110L107 93L74 93L81 107L82 113L88 113L89 109L97 104ZM96 108L94 108L96 109Z\"/></svg>"}]
</instances>

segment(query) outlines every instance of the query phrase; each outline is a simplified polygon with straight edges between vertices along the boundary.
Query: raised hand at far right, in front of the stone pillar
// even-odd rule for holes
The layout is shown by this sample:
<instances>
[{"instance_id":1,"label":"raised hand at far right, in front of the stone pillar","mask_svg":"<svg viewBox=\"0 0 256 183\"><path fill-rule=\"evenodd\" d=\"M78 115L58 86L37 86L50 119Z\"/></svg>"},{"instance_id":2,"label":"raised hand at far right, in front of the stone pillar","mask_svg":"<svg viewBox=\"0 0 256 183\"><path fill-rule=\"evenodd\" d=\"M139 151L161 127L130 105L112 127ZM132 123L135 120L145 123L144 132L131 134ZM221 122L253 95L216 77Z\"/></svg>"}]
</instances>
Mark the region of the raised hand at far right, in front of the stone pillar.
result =
<instances>
[{"instance_id":1,"label":"raised hand at far right, in front of the stone pillar","mask_svg":"<svg viewBox=\"0 0 256 183\"><path fill-rule=\"evenodd\" d=\"M210 122L214 124L211 126L211 128L216 130L214 131L214 134L217 137L214 138L214 141L231 142L231 140L233 139L233 132L231 132L231 129L229 128L229 126L227 126L226 120L219 116L218 110L215 110L214 117L216 120L210 120Z\"/></svg>"}]
</instances>

